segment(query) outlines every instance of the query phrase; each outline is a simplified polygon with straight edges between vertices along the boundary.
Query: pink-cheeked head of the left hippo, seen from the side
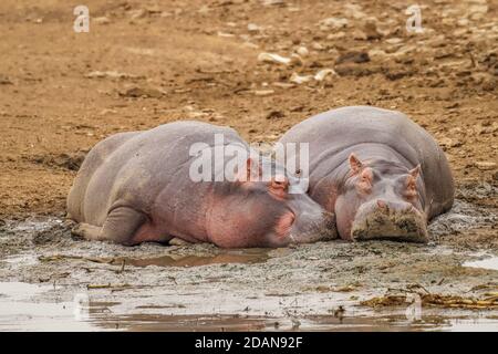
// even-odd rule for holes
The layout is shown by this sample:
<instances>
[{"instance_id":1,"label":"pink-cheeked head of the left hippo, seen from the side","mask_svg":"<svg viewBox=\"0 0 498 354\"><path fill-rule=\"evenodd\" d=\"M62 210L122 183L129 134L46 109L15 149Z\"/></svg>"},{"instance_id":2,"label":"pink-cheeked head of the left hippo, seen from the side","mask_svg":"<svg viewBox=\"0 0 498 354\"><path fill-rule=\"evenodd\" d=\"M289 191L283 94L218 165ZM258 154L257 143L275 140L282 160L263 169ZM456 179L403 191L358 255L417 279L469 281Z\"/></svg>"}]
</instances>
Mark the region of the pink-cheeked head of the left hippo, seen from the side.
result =
<instances>
[{"instance_id":1,"label":"pink-cheeked head of the left hippo, seen from the side","mask_svg":"<svg viewBox=\"0 0 498 354\"><path fill-rule=\"evenodd\" d=\"M295 192L299 178L271 159L247 159L235 181L218 185L208 221L219 247L283 247L336 237L333 215L313 201L307 190ZM273 177L262 178L263 164ZM292 190L292 192L290 192Z\"/></svg>"}]
</instances>

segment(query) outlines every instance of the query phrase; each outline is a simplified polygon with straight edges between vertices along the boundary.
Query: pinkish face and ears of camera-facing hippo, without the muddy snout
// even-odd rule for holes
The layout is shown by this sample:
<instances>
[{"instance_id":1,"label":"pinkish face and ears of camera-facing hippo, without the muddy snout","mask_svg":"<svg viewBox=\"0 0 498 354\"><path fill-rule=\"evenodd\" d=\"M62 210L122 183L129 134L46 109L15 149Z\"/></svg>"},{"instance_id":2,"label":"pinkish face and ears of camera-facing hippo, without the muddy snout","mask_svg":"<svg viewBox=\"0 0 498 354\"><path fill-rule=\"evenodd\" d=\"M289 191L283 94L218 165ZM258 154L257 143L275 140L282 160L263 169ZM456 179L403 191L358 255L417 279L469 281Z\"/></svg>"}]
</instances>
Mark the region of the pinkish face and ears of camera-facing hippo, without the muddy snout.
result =
<instances>
[{"instance_id":1,"label":"pinkish face and ears of camera-facing hippo, without the muddy snout","mask_svg":"<svg viewBox=\"0 0 498 354\"><path fill-rule=\"evenodd\" d=\"M353 240L354 223L380 209L409 212L414 218L424 220L417 190L419 166L403 173L388 168L381 171L373 167L375 164L362 163L354 154L350 155L349 165L342 192L335 200L336 227L341 238Z\"/></svg>"}]
</instances>

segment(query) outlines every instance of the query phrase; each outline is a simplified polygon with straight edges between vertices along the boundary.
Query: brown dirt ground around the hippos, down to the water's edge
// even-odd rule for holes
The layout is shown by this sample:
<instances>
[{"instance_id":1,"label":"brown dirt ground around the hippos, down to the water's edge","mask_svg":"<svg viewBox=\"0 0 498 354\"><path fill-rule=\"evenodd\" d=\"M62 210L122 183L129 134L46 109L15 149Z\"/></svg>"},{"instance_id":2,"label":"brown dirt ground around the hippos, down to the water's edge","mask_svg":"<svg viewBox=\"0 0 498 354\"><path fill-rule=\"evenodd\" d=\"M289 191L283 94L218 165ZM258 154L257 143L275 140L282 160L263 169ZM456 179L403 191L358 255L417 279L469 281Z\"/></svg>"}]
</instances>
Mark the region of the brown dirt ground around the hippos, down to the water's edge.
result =
<instances>
[{"instance_id":1,"label":"brown dirt ground around the hippos, down to the water's edge","mask_svg":"<svg viewBox=\"0 0 498 354\"><path fill-rule=\"evenodd\" d=\"M391 288L418 284L458 295L469 295L473 287L496 291L497 271L461 264L483 252L498 253L498 1L417 3L423 33L407 32L405 10L412 3L405 1L85 0L90 32L75 33L73 4L66 1L2 0L0 281L61 283L49 294L64 301L81 287L132 284L118 292L92 291L104 303L156 296L149 304L156 310L164 296L178 304L174 296L184 292L193 296L180 301L187 310L177 306L168 314L243 313L258 316L256 322L266 312L287 315L276 310L286 299L336 319L328 312L331 301L357 304ZM287 65L262 62L262 52L300 59ZM322 81L295 83L326 69L334 73ZM332 242L261 251L252 254L256 263L245 251L249 259L222 259L241 261L226 267L211 264L220 251L207 246L95 246L71 239L63 226L65 197L85 153L111 134L199 119L229 125L249 142L272 143L313 114L360 104L406 113L447 154L457 205L432 226L429 246ZM158 272L157 264L125 261L126 271L116 274L120 264L102 262L172 252L209 259L187 266L211 266ZM83 259L52 259L58 254ZM169 292L152 291L152 283ZM228 303L246 299L239 303L258 310L193 305L201 303L195 293L224 290L234 292L235 302ZM262 299L267 308L258 305ZM136 312L128 304L117 313L129 315L129 309Z\"/></svg>"}]
</instances>

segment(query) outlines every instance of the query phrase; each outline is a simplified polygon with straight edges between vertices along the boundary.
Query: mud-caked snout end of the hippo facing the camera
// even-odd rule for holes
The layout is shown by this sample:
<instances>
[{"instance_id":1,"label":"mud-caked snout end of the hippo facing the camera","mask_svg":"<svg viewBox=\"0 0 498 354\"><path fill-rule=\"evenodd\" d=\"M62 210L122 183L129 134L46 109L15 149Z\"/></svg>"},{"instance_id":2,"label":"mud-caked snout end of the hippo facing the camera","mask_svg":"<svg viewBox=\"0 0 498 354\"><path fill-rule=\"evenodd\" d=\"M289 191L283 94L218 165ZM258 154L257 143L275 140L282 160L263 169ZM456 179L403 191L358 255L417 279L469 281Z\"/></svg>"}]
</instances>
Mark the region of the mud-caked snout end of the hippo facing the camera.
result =
<instances>
[{"instance_id":1,"label":"mud-caked snout end of the hippo facing the camera","mask_svg":"<svg viewBox=\"0 0 498 354\"><path fill-rule=\"evenodd\" d=\"M409 202L377 199L360 207L351 237L425 243L428 241L426 225L425 216Z\"/></svg>"}]
</instances>

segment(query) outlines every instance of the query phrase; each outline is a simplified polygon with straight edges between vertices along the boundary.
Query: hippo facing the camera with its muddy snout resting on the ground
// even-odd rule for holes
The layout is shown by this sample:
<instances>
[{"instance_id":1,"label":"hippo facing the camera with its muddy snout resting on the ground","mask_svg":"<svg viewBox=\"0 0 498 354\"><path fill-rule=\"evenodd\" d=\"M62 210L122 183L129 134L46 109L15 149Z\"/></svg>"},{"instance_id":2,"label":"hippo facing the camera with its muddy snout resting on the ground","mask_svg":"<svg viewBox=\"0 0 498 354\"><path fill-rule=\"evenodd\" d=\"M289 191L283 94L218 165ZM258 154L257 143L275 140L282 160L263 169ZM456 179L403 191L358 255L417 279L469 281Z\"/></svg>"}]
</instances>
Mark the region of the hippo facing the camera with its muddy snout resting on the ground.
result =
<instances>
[{"instance_id":1,"label":"hippo facing the camera with its muddy snout resting on the ground","mask_svg":"<svg viewBox=\"0 0 498 354\"><path fill-rule=\"evenodd\" d=\"M335 214L342 239L426 242L427 222L453 206L445 154L401 112L332 110L295 125L280 143L309 143L309 195Z\"/></svg>"}]
</instances>

